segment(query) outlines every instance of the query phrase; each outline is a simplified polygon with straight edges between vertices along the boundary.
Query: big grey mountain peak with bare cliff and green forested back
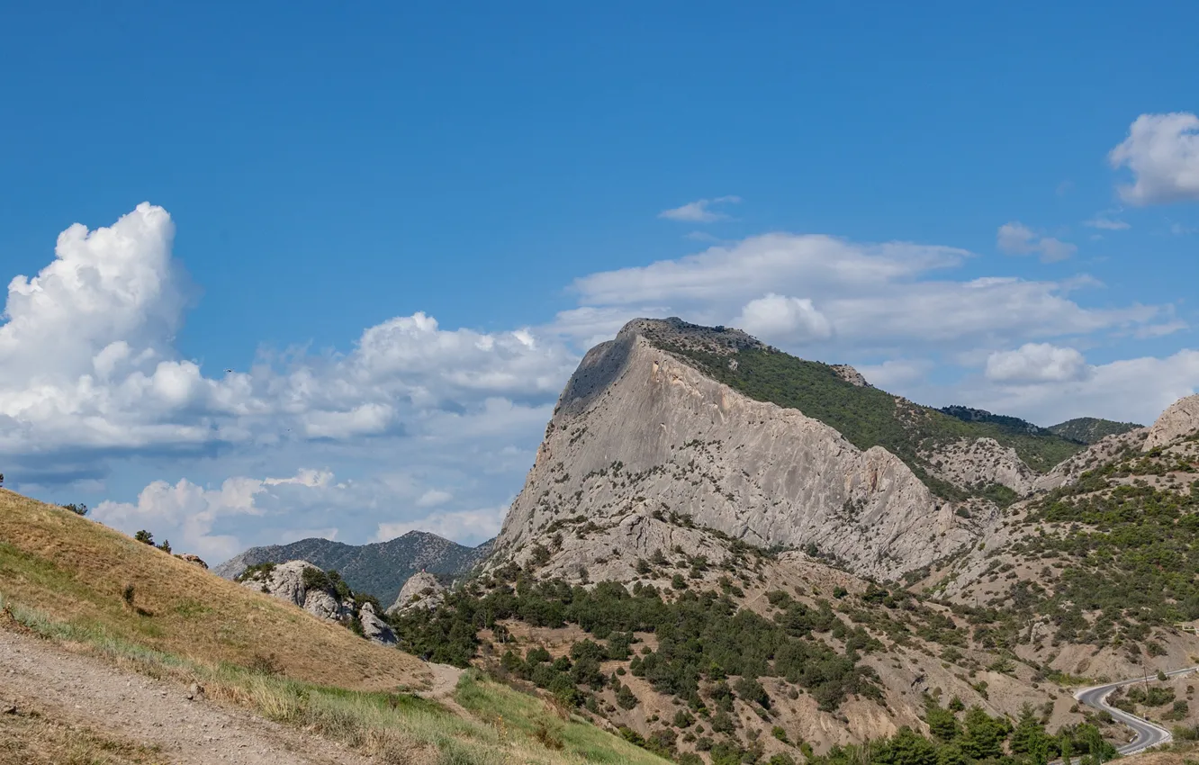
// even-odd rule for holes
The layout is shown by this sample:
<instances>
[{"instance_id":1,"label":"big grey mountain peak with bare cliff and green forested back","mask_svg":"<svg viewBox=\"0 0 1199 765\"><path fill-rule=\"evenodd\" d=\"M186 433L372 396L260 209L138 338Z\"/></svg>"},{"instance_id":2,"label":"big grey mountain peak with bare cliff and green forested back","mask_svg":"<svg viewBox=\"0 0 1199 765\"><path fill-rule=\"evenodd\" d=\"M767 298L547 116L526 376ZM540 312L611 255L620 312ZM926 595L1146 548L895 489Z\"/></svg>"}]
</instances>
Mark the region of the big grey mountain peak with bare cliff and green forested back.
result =
<instances>
[{"instance_id":1,"label":"big grey mountain peak with bare cliff and green forested back","mask_svg":"<svg viewBox=\"0 0 1199 765\"><path fill-rule=\"evenodd\" d=\"M739 330L631 321L567 382L489 565L627 580L656 552L723 559L716 531L897 578L975 543L988 493L1026 492L1080 448L846 369Z\"/></svg>"}]
</instances>

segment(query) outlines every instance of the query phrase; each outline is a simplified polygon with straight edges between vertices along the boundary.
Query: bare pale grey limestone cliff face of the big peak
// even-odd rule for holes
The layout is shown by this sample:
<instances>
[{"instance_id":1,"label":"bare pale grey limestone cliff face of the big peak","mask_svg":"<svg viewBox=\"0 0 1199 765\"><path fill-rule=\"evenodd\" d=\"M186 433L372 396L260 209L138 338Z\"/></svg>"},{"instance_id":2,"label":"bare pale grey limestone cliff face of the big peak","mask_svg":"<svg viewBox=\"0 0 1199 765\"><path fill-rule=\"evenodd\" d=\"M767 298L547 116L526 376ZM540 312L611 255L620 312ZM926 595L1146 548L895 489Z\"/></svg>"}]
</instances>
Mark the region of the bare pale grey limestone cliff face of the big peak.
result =
<instances>
[{"instance_id":1,"label":"bare pale grey limestone cliff face of the big peak","mask_svg":"<svg viewBox=\"0 0 1199 765\"><path fill-rule=\"evenodd\" d=\"M591 566L659 549L712 548L718 559L707 528L893 578L974 542L976 531L899 458L860 451L799 410L707 378L661 349L670 330L669 320L635 320L586 354L490 565L537 556L562 576L583 566L598 580ZM757 343L742 335L697 342Z\"/></svg>"}]
</instances>

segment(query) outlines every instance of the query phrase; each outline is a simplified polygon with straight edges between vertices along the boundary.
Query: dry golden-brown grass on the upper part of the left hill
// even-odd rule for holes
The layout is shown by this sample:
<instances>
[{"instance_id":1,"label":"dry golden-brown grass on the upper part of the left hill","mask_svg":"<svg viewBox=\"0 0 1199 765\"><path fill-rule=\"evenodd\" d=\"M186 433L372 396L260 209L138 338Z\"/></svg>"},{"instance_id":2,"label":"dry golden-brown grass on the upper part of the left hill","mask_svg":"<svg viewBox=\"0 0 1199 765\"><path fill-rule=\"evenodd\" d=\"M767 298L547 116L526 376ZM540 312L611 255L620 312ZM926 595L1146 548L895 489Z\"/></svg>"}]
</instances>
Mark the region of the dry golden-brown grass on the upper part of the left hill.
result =
<instances>
[{"instance_id":1,"label":"dry golden-brown grass on the upper part of the left hill","mask_svg":"<svg viewBox=\"0 0 1199 765\"><path fill-rule=\"evenodd\" d=\"M132 606L123 597L132 585ZM0 489L0 595L52 618L201 663L273 652L296 680L421 687L412 656L253 592L68 511Z\"/></svg>"}]
</instances>

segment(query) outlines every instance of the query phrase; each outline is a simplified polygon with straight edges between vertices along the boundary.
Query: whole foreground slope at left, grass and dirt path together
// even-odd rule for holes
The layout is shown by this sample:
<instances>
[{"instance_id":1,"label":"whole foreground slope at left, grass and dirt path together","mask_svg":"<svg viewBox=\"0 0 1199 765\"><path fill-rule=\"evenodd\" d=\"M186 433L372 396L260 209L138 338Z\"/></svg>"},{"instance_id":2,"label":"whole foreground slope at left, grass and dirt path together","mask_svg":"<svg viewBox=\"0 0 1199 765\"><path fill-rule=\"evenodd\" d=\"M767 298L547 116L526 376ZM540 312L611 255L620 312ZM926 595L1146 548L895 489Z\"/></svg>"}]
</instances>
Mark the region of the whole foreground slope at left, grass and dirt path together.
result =
<instances>
[{"instance_id":1,"label":"whole foreground slope at left, grass and dirt path together","mask_svg":"<svg viewBox=\"0 0 1199 765\"><path fill-rule=\"evenodd\" d=\"M47 640L28 649L25 638L12 632ZM100 658L108 669L76 657L55 661L54 651ZM153 747L171 761L215 761L227 752L231 761L252 761L247 748L257 745L247 743L251 739L239 739L219 721L203 729L204 722L241 706L309 739L297 742L281 733L273 742L284 748L271 761L301 761L283 753L297 746L320 763L663 761L542 699L375 645L296 606L6 490L0 490L0 655L8 670L22 675L0 680L0 691L20 697L14 715L0 713L0 742L26 753L35 743L54 743L36 740L53 734L60 739L55 746L76 747L76 754L77 745L119 746L129 753L126 761L163 761ZM46 667L49 674L38 674ZM145 675L165 682L151 683ZM100 685L92 688L92 682ZM131 691L134 685L153 692ZM82 698L98 699L95 711L104 715L80 711ZM150 709L147 698L165 700ZM131 701L134 725L107 716ZM209 703L224 712L199 707ZM30 712L47 717L34 724ZM98 730L83 736L80 722ZM152 745L149 760L138 741L126 741L146 724L152 734L134 737ZM258 718L248 724L264 727ZM74 733L66 736L64 729ZM331 742L348 747L344 758ZM193 745L204 751L177 757Z\"/></svg>"}]
</instances>

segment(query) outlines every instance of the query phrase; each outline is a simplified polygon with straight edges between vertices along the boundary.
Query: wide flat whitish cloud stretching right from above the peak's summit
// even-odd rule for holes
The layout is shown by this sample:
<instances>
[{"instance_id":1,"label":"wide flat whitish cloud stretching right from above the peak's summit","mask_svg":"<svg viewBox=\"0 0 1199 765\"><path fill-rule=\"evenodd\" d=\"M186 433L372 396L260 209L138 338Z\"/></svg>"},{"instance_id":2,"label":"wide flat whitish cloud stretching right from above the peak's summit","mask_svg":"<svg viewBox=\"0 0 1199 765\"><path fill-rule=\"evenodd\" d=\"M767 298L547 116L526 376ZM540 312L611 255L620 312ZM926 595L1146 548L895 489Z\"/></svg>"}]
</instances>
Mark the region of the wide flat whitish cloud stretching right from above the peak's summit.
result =
<instances>
[{"instance_id":1,"label":"wide flat whitish cloud stretching right from above the peak's summit","mask_svg":"<svg viewBox=\"0 0 1199 765\"><path fill-rule=\"evenodd\" d=\"M1089 278L1028 281L935 278L962 266L966 251L890 242L860 245L821 235L769 234L647 266L594 273L573 284L580 307L559 314L555 331L584 342L610 337L635 315L687 317L740 326L748 319L807 315L818 331L805 343L832 337L827 350L845 354L1002 348L1032 339L1131 332L1174 321L1169 308L1129 305L1087 308L1072 296L1102 287ZM794 299L819 296L819 317ZM755 311L748 311L754 306ZM812 311L817 306L813 305ZM770 311L773 309L773 311ZM797 320L797 319L796 319ZM824 331L829 329L829 332ZM788 338L778 344L787 348ZM821 349L817 349L818 351Z\"/></svg>"}]
</instances>

